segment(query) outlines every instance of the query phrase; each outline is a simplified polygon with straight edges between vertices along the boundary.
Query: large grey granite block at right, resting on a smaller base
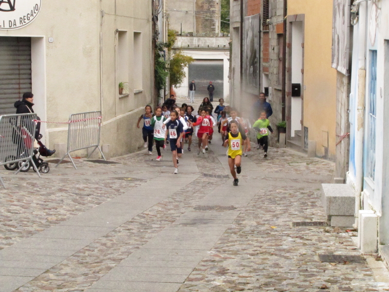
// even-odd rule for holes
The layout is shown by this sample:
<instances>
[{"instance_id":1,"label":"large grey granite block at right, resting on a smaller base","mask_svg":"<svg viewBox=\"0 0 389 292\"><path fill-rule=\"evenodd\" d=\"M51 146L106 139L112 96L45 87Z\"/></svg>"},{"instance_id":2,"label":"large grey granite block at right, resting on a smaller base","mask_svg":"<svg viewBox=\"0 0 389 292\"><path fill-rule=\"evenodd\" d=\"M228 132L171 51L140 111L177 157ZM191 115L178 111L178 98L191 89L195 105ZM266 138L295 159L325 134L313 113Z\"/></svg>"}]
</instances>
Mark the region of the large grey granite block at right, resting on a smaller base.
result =
<instances>
[{"instance_id":1,"label":"large grey granite block at right, resting on a smaller base","mask_svg":"<svg viewBox=\"0 0 389 292\"><path fill-rule=\"evenodd\" d=\"M353 216L355 195L349 184L322 183L321 200L327 216Z\"/></svg>"}]
</instances>

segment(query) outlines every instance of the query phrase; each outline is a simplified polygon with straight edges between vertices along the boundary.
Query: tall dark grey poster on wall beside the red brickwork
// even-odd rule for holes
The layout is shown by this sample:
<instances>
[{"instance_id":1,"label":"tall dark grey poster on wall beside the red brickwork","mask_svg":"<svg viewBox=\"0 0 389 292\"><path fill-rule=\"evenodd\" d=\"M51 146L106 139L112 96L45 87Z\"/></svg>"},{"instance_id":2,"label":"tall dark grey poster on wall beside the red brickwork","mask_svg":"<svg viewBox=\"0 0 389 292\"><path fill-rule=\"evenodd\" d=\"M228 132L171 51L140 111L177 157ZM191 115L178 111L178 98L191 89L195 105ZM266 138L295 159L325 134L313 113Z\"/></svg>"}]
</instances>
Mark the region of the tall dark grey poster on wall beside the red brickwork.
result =
<instances>
[{"instance_id":1,"label":"tall dark grey poster on wall beside the red brickwork","mask_svg":"<svg viewBox=\"0 0 389 292\"><path fill-rule=\"evenodd\" d=\"M243 91L259 94L259 14L245 17L243 29Z\"/></svg>"}]
</instances>

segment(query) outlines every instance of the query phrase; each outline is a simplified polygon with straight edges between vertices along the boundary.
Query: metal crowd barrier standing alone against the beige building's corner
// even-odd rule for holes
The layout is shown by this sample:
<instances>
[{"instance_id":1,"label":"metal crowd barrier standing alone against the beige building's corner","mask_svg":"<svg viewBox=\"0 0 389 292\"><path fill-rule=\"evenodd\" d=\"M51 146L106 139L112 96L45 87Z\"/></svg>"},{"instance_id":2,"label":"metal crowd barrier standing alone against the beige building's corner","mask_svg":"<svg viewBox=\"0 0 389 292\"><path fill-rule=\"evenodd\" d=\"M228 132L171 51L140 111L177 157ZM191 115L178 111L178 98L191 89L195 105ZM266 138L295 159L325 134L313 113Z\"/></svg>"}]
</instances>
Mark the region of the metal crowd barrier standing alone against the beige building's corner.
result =
<instances>
[{"instance_id":1,"label":"metal crowd barrier standing alone against the beige building's corner","mask_svg":"<svg viewBox=\"0 0 389 292\"><path fill-rule=\"evenodd\" d=\"M69 156L74 168L77 169L70 153L91 147L94 147L94 149L89 154L88 158L96 149L99 149L101 156L106 160L103 151L100 149L101 119L101 111L75 113L69 116L67 152L55 167L61 164L61 162Z\"/></svg>"}]
</instances>

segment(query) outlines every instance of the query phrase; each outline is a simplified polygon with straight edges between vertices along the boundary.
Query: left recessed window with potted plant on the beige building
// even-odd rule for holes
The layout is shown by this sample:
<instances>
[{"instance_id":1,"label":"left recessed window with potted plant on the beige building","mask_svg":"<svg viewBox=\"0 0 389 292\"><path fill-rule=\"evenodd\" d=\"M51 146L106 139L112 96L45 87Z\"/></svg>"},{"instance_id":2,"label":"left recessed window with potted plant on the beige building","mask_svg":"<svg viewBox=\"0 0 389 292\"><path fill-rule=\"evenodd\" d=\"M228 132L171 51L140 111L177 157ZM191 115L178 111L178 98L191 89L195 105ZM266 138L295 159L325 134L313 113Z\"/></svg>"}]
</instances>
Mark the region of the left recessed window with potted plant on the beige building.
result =
<instances>
[{"instance_id":1,"label":"left recessed window with potted plant on the beige building","mask_svg":"<svg viewBox=\"0 0 389 292\"><path fill-rule=\"evenodd\" d=\"M129 72L128 35L126 31L118 32L117 82L128 83ZM123 92L128 93L128 92Z\"/></svg>"}]
</instances>

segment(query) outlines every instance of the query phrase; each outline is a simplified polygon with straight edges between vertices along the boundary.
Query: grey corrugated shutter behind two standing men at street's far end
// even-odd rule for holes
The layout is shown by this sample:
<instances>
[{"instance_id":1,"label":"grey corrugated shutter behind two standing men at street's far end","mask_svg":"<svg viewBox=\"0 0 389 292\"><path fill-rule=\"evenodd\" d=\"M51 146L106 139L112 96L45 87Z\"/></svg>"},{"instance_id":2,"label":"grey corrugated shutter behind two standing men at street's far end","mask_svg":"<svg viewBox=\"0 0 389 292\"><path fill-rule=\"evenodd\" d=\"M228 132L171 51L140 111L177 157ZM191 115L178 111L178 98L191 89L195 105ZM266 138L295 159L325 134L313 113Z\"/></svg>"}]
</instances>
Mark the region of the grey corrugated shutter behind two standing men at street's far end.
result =
<instances>
[{"instance_id":1,"label":"grey corrugated shutter behind two standing men at street's far end","mask_svg":"<svg viewBox=\"0 0 389 292\"><path fill-rule=\"evenodd\" d=\"M208 97L207 87L212 81L215 87L213 102L224 97L224 63L223 60L195 60L189 64L189 82L195 80L196 99Z\"/></svg>"}]
</instances>

